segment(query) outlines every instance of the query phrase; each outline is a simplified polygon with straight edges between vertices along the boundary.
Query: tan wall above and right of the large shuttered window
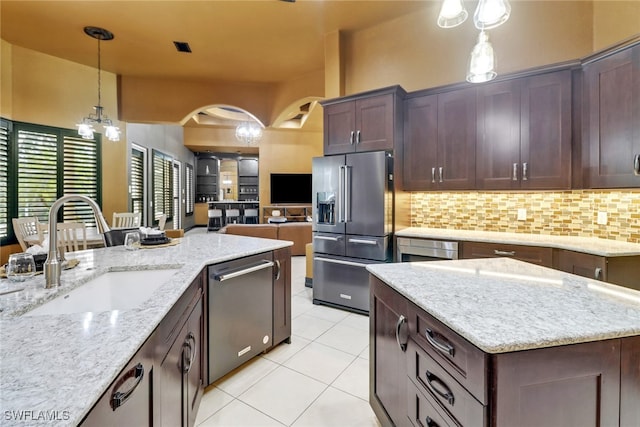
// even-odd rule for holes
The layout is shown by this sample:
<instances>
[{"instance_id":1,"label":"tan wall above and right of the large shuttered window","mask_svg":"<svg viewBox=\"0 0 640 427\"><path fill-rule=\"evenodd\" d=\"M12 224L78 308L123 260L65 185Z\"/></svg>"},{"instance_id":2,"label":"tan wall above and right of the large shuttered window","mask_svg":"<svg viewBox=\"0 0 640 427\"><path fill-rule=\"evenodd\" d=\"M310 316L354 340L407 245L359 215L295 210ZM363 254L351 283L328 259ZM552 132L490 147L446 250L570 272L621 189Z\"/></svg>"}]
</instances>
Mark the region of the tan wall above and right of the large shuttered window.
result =
<instances>
[{"instance_id":1,"label":"tan wall above and right of the large shuttered window","mask_svg":"<svg viewBox=\"0 0 640 427\"><path fill-rule=\"evenodd\" d=\"M2 41L3 117L73 129L97 104L97 70ZM121 142L103 138L102 209L105 217L127 209L127 158L124 123L117 119L116 76L102 73L102 105L123 131Z\"/></svg>"}]
</instances>

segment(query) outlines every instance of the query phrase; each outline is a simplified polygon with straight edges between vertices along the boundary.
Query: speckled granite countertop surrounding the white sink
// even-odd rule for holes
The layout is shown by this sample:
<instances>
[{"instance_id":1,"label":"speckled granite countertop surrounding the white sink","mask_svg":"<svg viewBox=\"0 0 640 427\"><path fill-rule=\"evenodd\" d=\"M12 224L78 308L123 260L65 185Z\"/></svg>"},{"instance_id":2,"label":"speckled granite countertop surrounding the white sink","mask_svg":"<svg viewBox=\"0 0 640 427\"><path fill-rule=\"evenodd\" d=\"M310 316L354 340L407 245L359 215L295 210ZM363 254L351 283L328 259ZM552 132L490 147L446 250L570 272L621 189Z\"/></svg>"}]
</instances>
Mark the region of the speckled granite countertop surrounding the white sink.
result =
<instances>
[{"instance_id":1,"label":"speckled granite countertop surrounding the white sink","mask_svg":"<svg viewBox=\"0 0 640 427\"><path fill-rule=\"evenodd\" d=\"M62 285L44 277L0 281L0 425L77 425L207 265L290 246L291 242L197 234L175 246L123 246L67 254L80 261ZM175 268L140 307L68 315L22 316L107 271ZM19 418L22 417L22 420Z\"/></svg>"}]
</instances>

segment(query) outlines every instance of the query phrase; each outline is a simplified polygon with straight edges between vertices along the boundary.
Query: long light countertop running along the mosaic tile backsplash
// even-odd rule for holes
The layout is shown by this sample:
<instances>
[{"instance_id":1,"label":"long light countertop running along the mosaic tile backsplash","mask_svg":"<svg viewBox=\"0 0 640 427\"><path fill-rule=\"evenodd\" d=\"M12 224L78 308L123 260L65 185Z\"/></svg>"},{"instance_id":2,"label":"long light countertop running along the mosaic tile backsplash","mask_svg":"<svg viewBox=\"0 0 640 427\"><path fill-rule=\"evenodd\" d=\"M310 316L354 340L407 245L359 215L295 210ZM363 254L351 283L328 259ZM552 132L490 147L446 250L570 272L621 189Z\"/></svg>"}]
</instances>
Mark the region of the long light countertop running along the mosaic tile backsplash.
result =
<instances>
[{"instance_id":1,"label":"long light countertop running along the mosaic tile backsplash","mask_svg":"<svg viewBox=\"0 0 640 427\"><path fill-rule=\"evenodd\" d=\"M543 246L606 257L640 255L639 243L599 239L597 237L551 236L546 234L450 230L427 227L405 228L396 232L395 235L397 237L420 237L424 239L448 239L510 245Z\"/></svg>"}]
</instances>

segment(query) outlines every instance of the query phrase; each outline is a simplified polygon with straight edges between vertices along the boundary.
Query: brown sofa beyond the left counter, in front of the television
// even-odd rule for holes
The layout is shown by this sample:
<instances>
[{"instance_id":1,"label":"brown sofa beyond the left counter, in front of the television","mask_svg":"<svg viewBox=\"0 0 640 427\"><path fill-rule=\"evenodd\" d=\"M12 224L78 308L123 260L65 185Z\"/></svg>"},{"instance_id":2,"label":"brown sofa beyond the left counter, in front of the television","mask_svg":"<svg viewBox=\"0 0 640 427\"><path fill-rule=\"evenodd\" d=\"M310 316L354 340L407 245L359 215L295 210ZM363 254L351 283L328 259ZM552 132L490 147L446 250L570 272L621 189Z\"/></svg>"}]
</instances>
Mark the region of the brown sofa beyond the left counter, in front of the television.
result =
<instances>
[{"instance_id":1,"label":"brown sofa beyond the left counter, in front of the television","mask_svg":"<svg viewBox=\"0 0 640 427\"><path fill-rule=\"evenodd\" d=\"M305 246L311 243L310 222L284 222L273 224L227 224L218 233L293 242L292 256L304 256Z\"/></svg>"}]
</instances>

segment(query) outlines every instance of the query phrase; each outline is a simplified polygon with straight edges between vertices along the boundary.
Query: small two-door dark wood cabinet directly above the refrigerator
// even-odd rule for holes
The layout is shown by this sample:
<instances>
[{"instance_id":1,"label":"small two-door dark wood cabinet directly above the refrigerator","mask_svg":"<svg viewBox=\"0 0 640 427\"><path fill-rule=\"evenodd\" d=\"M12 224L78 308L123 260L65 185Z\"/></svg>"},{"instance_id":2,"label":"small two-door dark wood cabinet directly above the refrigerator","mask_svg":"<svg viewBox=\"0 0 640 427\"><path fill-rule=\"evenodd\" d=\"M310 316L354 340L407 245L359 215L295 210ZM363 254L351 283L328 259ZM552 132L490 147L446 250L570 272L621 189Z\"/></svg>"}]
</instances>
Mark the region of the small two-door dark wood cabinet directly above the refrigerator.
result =
<instances>
[{"instance_id":1,"label":"small two-door dark wood cabinet directly above the refrigerator","mask_svg":"<svg viewBox=\"0 0 640 427\"><path fill-rule=\"evenodd\" d=\"M392 150L402 139L399 86L322 102L324 154Z\"/></svg>"}]
</instances>

